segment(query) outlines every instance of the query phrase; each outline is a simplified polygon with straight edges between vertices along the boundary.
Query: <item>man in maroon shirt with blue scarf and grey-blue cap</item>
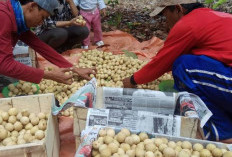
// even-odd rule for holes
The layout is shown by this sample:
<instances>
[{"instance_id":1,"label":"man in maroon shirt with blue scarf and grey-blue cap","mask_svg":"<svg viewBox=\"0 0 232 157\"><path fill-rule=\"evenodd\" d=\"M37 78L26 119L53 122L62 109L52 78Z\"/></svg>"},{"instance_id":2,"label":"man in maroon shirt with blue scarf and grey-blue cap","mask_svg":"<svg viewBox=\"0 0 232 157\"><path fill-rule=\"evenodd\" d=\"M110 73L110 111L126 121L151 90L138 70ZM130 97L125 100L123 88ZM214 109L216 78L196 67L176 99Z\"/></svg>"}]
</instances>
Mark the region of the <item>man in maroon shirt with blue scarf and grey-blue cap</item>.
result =
<instances>
[{"instance_id":1,"label":"man in maroon shirt with blue scarf and grey-blue cap","mask_svg":"<svg viewBox=\"0 0 232 157\"><path fill-rule=\"evenodd\" d=\"M31 31L30 27L42 24L43 20L53 14L57 7L56 0L3 0L0 1L0 74L19 80L39 83L42 78L71 84L72 70L85 79L95 74L94 69L75 68L60 54L43 43ZM25 42L49 62L59 67L53 72L32 68L19 63L13 58L13 47L18 40Z\"/></svg>"}]
</instances>

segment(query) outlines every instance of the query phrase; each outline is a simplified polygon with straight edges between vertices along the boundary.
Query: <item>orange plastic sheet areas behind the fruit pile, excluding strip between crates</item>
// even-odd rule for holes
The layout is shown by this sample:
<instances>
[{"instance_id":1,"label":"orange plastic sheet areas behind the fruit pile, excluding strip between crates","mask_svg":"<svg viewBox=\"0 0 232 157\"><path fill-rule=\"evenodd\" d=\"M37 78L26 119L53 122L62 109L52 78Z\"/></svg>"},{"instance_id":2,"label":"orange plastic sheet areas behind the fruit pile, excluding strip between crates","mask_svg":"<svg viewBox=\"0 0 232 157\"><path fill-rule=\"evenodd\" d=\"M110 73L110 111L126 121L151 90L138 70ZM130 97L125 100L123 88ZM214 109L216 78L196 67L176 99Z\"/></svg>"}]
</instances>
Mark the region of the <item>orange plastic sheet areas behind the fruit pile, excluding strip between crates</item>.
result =
<instances>
[{"instance_id":1,"label":"orange plastic sheet areas behind the fruit pile, excluding strip between crates","mask_svg":"<svg viewBox=\"0 0 232 157\"><path fill-rule=\"evenodd\" d=\"M123 54L124 51L135 53L141 60L151 60L163 46L163 40L153 37L144 42L139 42L132 35L119 30L103 33L103 41L105 46L97 48L97 46L90 46L90 49L99 49L105 52L112 52L113 54ZM72 63L77 63L81 57L80 53L83 49L72 49L64 52L62 55ZM37 54L38 55L38 54ZM43 57L38 55L39 68L55 67Z\"/></svg>"}]
</instances>

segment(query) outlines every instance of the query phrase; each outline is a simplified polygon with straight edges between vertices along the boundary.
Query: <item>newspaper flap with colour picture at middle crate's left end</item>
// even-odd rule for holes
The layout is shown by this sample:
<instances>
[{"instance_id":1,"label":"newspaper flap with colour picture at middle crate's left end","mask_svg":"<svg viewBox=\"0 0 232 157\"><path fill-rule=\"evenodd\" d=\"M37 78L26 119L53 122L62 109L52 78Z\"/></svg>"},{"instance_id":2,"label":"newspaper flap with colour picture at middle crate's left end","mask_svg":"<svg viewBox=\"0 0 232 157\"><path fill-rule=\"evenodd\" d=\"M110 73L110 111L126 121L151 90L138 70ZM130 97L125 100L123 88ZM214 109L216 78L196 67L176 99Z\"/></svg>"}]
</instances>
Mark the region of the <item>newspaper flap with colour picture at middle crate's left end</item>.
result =
<instances>
[{"instance_id":1,"label":"newspaper flap with colour picture at middle crate's left end","mask_svg":"<svg viewBox=\"0 0 232 157\"><path fill-rule=\"evenodd\" d=\"M78 107L93 107L96 103L96 88L97 81L95 78L90 80L81 89L77 90L64 104L57 106L56 104L52 106L52 114L57 115L61 111L64 111L72 106Z\"/></svg>"}]
</instances>

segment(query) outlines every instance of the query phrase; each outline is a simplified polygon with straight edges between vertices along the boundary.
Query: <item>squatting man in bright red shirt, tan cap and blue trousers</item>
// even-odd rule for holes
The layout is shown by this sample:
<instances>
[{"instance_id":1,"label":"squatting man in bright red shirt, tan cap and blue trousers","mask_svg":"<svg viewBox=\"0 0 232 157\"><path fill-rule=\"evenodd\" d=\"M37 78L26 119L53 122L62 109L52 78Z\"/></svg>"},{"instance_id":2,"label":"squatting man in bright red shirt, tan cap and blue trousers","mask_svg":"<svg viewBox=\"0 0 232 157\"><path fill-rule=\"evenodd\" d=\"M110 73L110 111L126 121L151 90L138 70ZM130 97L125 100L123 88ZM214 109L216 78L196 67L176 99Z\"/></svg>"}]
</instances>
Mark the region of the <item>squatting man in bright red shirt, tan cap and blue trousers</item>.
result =
<instances>
[{"instance_id":1,"label":"squatting man in bright red shirt, tan cap and blue trousers","mask_svg":"<svg viewBox=\"0 0 232 157\"><path fill-rule=\"evenodd\" d=\"M204 126L208 140L232 143L232 15L197 0L157 0L151 16L166 17L169 35L124 87L151 82L172 70L175 89L198 95L213 113Z\"/></svg>"}]
</instances>

